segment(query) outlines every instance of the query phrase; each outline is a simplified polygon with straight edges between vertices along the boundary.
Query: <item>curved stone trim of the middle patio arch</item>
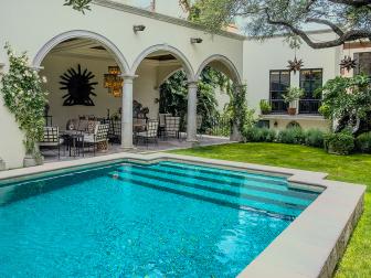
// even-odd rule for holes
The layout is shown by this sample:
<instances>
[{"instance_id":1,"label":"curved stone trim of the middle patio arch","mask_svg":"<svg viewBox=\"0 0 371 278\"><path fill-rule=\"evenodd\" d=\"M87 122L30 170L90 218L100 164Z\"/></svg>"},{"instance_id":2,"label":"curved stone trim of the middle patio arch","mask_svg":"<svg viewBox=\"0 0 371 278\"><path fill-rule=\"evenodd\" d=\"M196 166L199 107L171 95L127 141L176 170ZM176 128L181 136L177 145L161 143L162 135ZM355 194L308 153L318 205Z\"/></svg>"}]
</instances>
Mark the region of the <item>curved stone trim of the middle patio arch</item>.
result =
<instances>
[{"instance_id":1,"label":"curved stone trim of the middle patio arch","mask_svg":"<svg viewBox=\"0 0 371 278\"><path fill-rule=\"evenodd\" d=\"M140 63L150 54L155 53L155 52L159 52L159 51L163 51L163 52L168 52L171 55L173 55L183 66L183 70L187 74L187 77L190 82L194 81L194 71L192 68L191 63L189 62L189 60L187 58L187 56L179 51L178 49L170 46L168 44L157 44L157 45L152 45L146 50L144 50L139 56L134 61L132 66L131 66L131 75L135 75L135 73L137 72Z\"/></svg>"}]
</instances>

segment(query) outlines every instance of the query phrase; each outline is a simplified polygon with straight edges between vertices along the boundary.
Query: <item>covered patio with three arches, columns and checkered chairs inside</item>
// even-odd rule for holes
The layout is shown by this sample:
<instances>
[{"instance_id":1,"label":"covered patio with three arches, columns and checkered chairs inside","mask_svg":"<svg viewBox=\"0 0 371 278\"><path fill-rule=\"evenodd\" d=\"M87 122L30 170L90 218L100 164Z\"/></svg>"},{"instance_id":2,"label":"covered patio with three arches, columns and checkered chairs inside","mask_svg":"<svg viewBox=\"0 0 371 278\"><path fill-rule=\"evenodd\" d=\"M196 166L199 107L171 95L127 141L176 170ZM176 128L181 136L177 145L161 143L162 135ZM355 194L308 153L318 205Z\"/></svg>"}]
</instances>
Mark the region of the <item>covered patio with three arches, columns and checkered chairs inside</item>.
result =
<instances>
[{"instance_id":1,"label":"covered patio with three arches, columns and checkered chairs inside","mask_svg":"<svg viewBox=\"0 0 371 278\"><path fill-rule=\"evenodd\" d=\"M210 56L194 74L179 50L155 45L139 54L127 74L121 57L104 38L88 32L71 35L53 39L43 55L38 55L49 92L44 141L40 143L46 162L230 142L226 137L198 136L203 119L197 113L203 68L213 67L240 83L226 57ZM187 111L161 114L161 84L178 71L187 75ZM57 153L49 148L53 146Z\"/></svg>"}]
</instances>

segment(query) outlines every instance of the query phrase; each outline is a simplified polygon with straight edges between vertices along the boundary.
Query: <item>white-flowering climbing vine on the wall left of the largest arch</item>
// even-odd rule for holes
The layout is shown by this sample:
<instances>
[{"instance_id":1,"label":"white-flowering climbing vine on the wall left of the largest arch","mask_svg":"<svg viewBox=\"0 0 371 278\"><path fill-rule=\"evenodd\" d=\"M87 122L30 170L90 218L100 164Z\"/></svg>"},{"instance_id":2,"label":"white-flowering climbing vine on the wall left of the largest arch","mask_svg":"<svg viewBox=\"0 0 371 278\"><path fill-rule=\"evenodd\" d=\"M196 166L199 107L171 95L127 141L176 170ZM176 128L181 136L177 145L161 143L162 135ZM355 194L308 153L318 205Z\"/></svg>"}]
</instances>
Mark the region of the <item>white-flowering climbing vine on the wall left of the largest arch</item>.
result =
<instances>
[{"instance_id":1,"label":"white-flowering climbing vine on the wall left of the largest arch","mask_svg":"<svg viewBox=\"0 0 371 278\"><path fill-rule=\"evenodd\" d=\"M7 43L9 72L1 79L4 105L14 115L19 128L24 131L23 140L28 154L40 156L36 143L42 139L44 107L47 93L42 89L42 81L35 70L30 68L26 53L17 55Z\"/></svg>"}]
</instances>

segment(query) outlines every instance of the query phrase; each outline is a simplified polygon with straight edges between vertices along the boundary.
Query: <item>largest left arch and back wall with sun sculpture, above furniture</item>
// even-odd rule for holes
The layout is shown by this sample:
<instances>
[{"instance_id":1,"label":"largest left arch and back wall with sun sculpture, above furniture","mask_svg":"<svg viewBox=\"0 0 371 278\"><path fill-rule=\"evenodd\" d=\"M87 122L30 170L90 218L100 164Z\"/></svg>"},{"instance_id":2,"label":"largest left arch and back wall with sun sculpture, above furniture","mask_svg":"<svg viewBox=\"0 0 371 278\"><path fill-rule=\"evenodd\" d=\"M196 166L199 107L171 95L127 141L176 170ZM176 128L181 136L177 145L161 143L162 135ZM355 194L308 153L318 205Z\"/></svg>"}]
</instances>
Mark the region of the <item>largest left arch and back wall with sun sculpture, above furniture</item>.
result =
<instances>
[{"instance_id":1,"label":"largest left arch and back wall with sun sculpture, above furniture","mask_svg":"<svg viewBox=\"0 0 371 278\"><path fill-rule=\"evenodd\" d=\"M92 135L97 125L109 124L107 137L120 142L121 74L129 67L112 42L89 32L64 33L40 50L33 65L46 79L47 126ZM114 118L115 129L110 122Z\"/></svg>"}]
</instances>

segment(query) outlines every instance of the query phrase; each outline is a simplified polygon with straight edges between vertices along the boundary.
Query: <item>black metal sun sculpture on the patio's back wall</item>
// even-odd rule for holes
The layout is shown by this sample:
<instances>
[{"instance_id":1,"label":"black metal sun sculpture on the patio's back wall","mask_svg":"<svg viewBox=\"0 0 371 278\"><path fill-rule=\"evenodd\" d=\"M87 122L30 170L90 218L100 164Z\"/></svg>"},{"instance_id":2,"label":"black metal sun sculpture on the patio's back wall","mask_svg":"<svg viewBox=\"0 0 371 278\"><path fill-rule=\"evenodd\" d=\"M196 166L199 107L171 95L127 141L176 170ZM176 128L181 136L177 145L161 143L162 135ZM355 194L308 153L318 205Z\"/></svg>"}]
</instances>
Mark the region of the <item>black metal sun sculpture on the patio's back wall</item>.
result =
<instances>
[{"instance_id":1,"label":"black metal sun sculpture on the patio's back wall","mask_svg":"<svg viewBox=\"0 0 371 278\"><path fill-rule=\"evenodd\" d=\"M95 106L91 97L96 96L94 86L98 83L92 82L94 77L95 75L88 72L87 68L82 72L80 64L77 65L77 71L71 67L61 75L62 81L60 84L62 87L60 89L67 90L67 94L63 96L63 98L65 98L63 106Z\"/></svg>"}]
</instances>

